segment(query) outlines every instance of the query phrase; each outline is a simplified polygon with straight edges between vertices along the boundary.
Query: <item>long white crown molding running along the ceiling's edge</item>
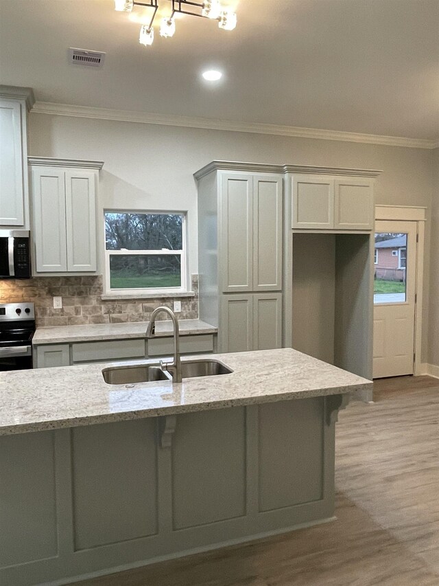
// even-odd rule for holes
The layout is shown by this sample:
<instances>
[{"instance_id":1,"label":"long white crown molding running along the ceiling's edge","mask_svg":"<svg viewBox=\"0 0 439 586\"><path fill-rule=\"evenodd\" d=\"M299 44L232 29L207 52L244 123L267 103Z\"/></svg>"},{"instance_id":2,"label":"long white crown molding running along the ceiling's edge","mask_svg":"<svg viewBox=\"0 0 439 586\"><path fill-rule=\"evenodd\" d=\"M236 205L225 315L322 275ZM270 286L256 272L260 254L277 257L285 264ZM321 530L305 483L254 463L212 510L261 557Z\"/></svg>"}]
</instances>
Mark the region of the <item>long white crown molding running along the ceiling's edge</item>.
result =
<instances>
[{"instance_id":1,"label":"long white crown molding running along the ceiling's edge","mask_svg":"<svg viewBox=\"0 0 439 586\"><path fill-rule=\"evenodd\" d=\"M380 136L341 131L327 131L319 128L300 128L299 126L278 126L260 124L259 122L235 122L233 120L215 120L189 116L161 115L130 110L111 110L91 106L73 106L52 102L36 102L32 113L96 118L98 120L116 120L118 122L137 122L141 124L161 124L163 126L185 126L189 128L206 128L217 131L269 134L312 138L322 140L340 140L344 142L361 142L381 144L384 146L405 146L410 148L435 148L437 141L405 137Z\"/></svg>"}]
</instances>

